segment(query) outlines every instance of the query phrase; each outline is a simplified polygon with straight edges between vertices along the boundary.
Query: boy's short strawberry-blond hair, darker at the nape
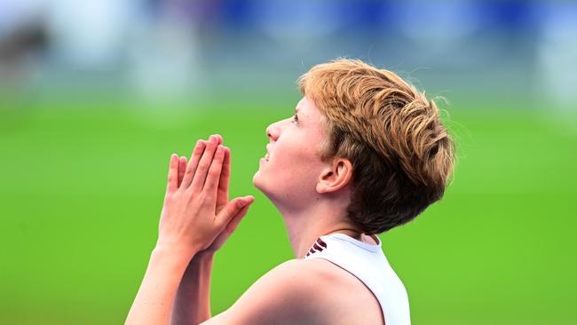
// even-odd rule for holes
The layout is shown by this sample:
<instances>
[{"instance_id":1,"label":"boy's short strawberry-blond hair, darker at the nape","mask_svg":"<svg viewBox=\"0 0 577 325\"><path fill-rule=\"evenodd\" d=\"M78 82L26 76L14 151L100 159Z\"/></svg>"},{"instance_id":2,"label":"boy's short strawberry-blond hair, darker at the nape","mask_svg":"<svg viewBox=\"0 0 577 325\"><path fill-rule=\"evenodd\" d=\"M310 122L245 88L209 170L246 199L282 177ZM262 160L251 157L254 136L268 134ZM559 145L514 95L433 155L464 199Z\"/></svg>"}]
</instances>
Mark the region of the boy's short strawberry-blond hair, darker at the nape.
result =
<instances>
[{"instance_id":1,"label":"boy's short strawberry-blond hair, darker at the nape","mask_svg":"<svg viewBox=\"0 0 577 325\"><path fill-rule=\"evenodd\" d=\"M360 60L314 66L301 92L327 117L323 161L352 163L348 217L365 234L407 223L444 194L454 141L425 93Z\"/></svg>"}]
</instances>

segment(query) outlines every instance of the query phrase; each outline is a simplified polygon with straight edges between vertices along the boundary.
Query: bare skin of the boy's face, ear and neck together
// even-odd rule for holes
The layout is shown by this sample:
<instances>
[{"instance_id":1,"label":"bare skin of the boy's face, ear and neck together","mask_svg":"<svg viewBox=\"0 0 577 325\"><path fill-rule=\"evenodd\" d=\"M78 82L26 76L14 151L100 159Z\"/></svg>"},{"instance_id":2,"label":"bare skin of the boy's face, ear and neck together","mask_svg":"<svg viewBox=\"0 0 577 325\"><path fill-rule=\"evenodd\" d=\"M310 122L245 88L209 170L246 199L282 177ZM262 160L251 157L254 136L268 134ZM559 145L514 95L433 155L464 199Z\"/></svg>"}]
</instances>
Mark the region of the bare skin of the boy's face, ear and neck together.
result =
<instances>
[{"instance_id":1,"label":"bare skin of the boy's face, ear and neck together","mask_svg":"<svg viewBox=\"0 0 577 325\"><path fill-rule=\"evenodd\" d=\"M295 110L296 118L267 128L270 159L261 159L253 183L281 212L291 247L302 258L320 235L339 232L361 237L344 212L351 197L351 162L322 162L324 115L306 98Z\"/></svg>"}]
</instances>

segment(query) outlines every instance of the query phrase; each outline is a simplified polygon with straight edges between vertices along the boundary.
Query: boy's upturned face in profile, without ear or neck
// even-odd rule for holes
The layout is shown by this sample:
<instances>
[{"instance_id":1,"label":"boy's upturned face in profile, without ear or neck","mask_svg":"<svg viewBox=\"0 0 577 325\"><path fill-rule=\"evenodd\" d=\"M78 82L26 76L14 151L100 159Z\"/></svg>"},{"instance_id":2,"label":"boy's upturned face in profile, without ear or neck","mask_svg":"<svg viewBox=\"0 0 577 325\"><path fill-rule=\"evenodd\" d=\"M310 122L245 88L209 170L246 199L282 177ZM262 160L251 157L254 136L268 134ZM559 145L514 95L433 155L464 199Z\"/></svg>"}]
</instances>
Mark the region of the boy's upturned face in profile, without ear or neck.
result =
<instances>
[{"instance_id":1,"label":"boy's upturned face in profile, without ear or neck","mask_svg":"<svg viewBox=\"0 0 577 325\"><path fill-rule=\"evenodd\" d=\"M317 183L328 164L319 155L326 117L306 97L295 111L266 128L267 155L260 159L253 183L273 203L297 209L319 195Z\"/></svg>"}]
</instances>

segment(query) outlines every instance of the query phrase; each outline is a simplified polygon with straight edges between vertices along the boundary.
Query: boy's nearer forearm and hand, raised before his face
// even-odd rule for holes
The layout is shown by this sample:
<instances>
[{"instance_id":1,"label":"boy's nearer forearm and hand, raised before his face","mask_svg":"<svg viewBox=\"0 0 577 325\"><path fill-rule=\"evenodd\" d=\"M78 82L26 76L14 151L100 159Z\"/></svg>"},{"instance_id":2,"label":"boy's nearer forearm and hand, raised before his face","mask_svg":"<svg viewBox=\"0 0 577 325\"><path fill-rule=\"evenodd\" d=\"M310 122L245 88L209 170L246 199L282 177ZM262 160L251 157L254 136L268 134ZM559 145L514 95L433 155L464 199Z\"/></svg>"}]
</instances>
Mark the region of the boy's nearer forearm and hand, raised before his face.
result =
<instances>
[{"instance_id":1,"label":"boy's nearer forearm and hand, raised before his face","mask_svg":"<svg viewBox=\"0 0 577 325\"><path fill-rule=\"evenodd\" d=\"M168 324L190 261L209 248L241 209L254 200L236 198L217 212L217 185L224 159L225 150L217 141L210 140L206 146L199 141L178 185L179 160L177 155L171 156L158 241L126 324Z\"/></svg>"}]
</instances>

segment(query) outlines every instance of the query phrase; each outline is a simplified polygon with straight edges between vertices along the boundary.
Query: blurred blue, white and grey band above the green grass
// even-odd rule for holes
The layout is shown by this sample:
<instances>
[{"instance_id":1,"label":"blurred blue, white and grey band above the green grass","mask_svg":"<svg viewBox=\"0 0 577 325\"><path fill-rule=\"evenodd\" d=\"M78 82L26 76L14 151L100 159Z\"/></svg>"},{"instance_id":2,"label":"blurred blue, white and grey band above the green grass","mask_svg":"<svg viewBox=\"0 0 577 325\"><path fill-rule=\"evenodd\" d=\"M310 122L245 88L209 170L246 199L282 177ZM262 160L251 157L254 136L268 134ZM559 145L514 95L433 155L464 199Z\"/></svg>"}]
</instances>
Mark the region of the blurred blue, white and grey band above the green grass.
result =
<instances>
[{"instance_id":1,"label":"blurred blue, white and grey band above the green grass","mask_svg":"<svg viewBox=\"0 0 577 325\"><path fill-rule=\"evenodd\" d=\"M577 96L576 12L559 1L3 0L0 71L4 90L211 99L286 93L345 56L433 94L552 109Z\"/></svg>"}]
</instances>

